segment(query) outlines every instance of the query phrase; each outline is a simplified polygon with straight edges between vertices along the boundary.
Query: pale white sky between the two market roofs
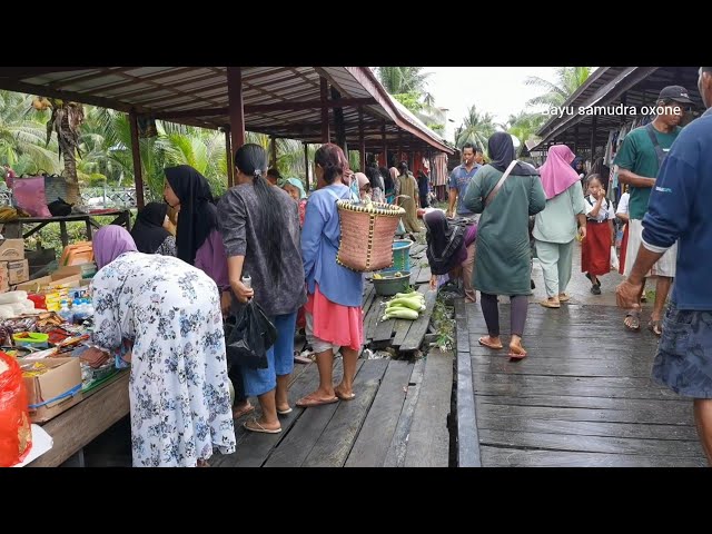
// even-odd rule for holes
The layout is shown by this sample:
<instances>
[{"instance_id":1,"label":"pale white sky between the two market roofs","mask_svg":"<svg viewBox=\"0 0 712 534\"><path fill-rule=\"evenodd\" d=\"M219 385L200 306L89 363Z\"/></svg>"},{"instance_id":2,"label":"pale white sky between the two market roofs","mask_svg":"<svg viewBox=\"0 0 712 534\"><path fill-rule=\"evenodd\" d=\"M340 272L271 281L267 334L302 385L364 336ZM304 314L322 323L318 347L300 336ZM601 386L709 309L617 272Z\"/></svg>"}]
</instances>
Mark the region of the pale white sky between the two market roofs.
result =
<instances>
[{"instance_id":1,"label":"pale white sky between the two market roofs","mask_svg":"<svg viewBox=\"0 0 712 534\"><path fill-rule=\"evenodd\" d=\"M452 137L473 103L479 112L494 115L495 122L505 122L510 115L526 107L526 101L544 92L527 86L528 76L555 81L554 67L425 67L427 90L435 98L435 106L447 108L447 132Z\"/></svg>"}]
</instances>

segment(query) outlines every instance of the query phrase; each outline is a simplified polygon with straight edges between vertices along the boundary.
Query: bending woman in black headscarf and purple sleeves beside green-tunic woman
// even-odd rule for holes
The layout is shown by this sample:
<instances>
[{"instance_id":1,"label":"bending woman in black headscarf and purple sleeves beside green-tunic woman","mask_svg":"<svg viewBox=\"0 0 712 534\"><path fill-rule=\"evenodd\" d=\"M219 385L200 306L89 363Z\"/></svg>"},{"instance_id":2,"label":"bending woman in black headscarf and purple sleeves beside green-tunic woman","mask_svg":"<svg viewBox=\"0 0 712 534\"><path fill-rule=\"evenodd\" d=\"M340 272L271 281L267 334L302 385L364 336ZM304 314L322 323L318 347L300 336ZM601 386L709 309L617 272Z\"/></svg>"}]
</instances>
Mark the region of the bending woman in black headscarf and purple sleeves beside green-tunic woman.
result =
<instances>
[{"instance_id":1,"label":"bending woman in black headscarf and purple sleeves beside green-tunic woman","mask_svg":"<svg viewBox=\"0 0 712 534\"><path fill-rule=\"evenodd\" d=\"M467 260L467 249L475 246L477 225L451 225L439 209L425 214L423 221L432 274L431 288L436 289L438 276L449 275L452 281L463 277L463 264ZM472 280L463 280L465 289L472 289L471 284Z\"/></svg>"}]
</instances>

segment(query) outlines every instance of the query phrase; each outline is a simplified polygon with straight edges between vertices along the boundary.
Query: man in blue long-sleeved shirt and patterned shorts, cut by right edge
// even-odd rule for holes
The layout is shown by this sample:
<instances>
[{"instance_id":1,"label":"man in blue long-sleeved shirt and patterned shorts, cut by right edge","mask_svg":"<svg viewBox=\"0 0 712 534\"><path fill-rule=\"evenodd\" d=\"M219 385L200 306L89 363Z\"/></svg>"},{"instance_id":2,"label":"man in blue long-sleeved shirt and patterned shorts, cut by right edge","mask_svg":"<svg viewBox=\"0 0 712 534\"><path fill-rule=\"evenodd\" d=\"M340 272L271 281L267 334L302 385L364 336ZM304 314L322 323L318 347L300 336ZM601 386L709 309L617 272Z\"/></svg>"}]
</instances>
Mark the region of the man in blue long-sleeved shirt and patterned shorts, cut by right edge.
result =
<instances>
[{"instance_id":1,"label":"man in blue long-sleeved shirt and patterned shorts, cut by right edge","mask_svg":"<svg viewBox=\"0 0 712 534\"><path fill-rule=\"evenodd\" d=\"M653 378L692 397L698 434L712 466L712 67L701 67L698 88L708 110L680 134L663 164L643 218L641 247L630 256L617 304L640 309L650 268L675 243L678 279L653 363Z\"/></svg>"}]
</instances>

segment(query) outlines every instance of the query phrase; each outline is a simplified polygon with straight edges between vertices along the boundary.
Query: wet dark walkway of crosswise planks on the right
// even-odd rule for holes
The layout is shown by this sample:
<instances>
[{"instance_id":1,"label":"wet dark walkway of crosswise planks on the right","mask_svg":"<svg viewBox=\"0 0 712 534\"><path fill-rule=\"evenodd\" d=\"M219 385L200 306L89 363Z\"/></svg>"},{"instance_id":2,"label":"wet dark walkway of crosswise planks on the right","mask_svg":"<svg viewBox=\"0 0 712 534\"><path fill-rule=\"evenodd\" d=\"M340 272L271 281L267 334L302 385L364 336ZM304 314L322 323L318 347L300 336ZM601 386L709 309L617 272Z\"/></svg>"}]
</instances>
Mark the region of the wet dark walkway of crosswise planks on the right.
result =
<instances>
[{"instance_id":1,"label":"wet dark walkway of crosswise planks on the right","mask_svg":"<svg viewBox=\"0 0 712 534\"><path fill-rule=\"evenodd\" d=\"M500 314L506 346L510 306ZM483 466L706 465L692 402L650 378L656 338L626 332L619 309L530 305L521 362L477 344L487 332L479 305L465 315L458 356L469 353L477 423L469 434Z\"/></svg>"}]
</instances>

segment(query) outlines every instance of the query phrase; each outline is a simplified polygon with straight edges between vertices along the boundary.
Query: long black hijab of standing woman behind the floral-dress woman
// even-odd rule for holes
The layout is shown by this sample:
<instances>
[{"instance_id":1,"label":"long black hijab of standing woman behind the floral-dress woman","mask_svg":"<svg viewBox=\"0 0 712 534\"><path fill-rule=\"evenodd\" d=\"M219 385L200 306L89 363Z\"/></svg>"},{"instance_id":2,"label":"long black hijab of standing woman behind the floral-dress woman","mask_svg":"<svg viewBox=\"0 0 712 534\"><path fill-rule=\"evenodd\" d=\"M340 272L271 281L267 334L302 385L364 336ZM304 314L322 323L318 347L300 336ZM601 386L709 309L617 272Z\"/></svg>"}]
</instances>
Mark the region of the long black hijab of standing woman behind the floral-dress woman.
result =
<instances>
[{"instance_id":1,"label":"long black hijab of standing woman behind the floral-dress woman","mask_svg":"<svg viewBox=\"0 0 712 534\"><path fill-rule=\"evenodd\" d=\"M196 253L210 233L218 227L212 192L205 176L189 165L164 169L166 179L180 200L176 248L178 257L195 265Z\"/></svg>"}]
</instances>

